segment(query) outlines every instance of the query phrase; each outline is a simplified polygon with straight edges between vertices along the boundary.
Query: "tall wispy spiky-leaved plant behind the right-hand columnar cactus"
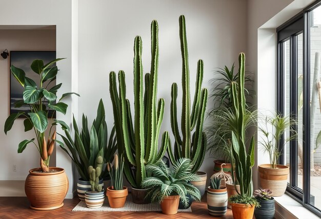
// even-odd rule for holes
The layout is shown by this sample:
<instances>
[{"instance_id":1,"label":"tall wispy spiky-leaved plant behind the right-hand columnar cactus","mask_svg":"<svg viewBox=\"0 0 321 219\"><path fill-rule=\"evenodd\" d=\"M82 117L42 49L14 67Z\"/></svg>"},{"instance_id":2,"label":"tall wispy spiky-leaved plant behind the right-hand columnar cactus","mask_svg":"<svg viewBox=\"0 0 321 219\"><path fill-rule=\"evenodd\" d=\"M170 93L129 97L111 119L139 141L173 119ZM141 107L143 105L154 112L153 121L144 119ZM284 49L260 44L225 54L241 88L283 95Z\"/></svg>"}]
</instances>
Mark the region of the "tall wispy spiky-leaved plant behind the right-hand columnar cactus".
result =
<instances>
[{"instance_id":1,"label":"tall wispy spiky-leaved plant behind the right-hand columnar cactus","mask_svg":"<svg viewBox=\"0 0 321 219\"><path fill-rule=\"evenodd\" d=\"M234 71L234 64L229 69L227 66L224 68L218 68L214 71L214 77L210 80L214 89L209 95L213 101L213 107L209 113L210 123L205 128L207 135L208 147L207 151L210 152L215 158L214 160L214 172L220 171L220 165L225 163L224 172L231 174L231 124L227 123L226 111L232 112L232 83L237 85L239 73ZM250 77L251 72L246 71L244 77L245 84L251 86L253 80ZM251 97L254 94L253 90L245 89L246 97ZM250 108L250 103L247 103L246 107ZM250 112L250 111L249 111ZM248 117L245 117L248 118ZM250 126L253 121L249 121L247 126Z\"/></svg>"}]
</instances>

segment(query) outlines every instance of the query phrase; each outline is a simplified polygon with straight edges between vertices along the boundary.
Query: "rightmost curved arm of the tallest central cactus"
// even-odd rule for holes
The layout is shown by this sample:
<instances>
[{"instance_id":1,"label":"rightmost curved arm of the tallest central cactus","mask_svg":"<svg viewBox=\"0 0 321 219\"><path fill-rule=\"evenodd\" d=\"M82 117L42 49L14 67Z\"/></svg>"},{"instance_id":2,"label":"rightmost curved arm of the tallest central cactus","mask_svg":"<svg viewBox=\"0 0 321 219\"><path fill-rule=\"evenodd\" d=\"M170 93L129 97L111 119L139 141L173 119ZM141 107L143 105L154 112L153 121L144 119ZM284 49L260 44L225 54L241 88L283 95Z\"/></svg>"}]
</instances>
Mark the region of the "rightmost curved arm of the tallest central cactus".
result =
<instances>
[{"instance_id":1,"label":"rightmost curved arm of the tallest central cactus","mask_svg":"<svg viewBox=\"0 0 321 219\"><path fill-rule=\"evenodd\" d=\"M193 152L192 152L192 162L195 164L196 160L199 157L200 148L202 147L202 133L203 133L203 123L204 115L207 103L207 89L202 90L202 98L200 100L200 113L198 114L196 130L195 130L195 139L193 140Z\"/></svg>"}]
</instances>

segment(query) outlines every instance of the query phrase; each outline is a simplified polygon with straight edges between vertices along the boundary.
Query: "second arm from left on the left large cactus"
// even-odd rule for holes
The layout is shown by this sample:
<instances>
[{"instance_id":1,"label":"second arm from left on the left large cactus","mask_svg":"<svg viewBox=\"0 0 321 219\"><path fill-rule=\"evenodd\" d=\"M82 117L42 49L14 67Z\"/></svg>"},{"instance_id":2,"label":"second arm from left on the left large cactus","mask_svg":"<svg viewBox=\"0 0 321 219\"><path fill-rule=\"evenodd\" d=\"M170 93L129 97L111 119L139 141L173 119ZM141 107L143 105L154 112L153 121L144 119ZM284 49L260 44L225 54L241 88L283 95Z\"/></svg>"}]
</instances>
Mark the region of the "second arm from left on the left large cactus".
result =
<instances>
[{"instance_id":1,"label":"second arm from left on the left large cactus","mask_svg":"<svg viewBox=\"0 0 321 219\"><path fill-rule=\"evenodd\" d=\"M131 152L129 133L128 133L128 121L127 121L127 110L126 110L126 84L125 84L125 73L124 71L119 71L118 73L119 80L119 102L121 106L121 122L122 122L122 130L123 130L123 140L125 151L127 155L128 161L132 165L136 165L135 159L133 158L133 154Z\"/></svg>"}]
</instances>

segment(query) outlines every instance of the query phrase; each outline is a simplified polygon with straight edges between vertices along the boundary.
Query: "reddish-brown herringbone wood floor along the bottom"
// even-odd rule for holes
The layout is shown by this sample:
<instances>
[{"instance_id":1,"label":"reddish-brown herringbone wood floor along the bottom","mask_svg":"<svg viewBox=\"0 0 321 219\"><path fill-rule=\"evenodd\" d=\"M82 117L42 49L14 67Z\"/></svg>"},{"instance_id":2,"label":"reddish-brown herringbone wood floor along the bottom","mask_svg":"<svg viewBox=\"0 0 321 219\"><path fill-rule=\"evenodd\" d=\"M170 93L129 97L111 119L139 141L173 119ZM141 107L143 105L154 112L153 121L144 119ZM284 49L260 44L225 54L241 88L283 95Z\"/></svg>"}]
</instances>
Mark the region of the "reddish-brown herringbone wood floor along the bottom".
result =
<instances>
[{"instance_id":1,"label":"reddish-brown herringbone wood floor along the bottom","mask_svg":"<svg viewBox=\"0 0 321 219\"><path fill-rule=\"evenodd\" d=\"M29 202L26 197L0 197L0 218L215 218L208 214L206 200L200 203L194 202L192 204L192 212L177 213L175 215L166 215L161 212L71 211L78 202L78 198L75 197L74 199L66 199L62 208L51 211L35 211L29 208ZM219 218L233 218L232 211L228 209L227 214Z\"/></svg>"}]
</instances>

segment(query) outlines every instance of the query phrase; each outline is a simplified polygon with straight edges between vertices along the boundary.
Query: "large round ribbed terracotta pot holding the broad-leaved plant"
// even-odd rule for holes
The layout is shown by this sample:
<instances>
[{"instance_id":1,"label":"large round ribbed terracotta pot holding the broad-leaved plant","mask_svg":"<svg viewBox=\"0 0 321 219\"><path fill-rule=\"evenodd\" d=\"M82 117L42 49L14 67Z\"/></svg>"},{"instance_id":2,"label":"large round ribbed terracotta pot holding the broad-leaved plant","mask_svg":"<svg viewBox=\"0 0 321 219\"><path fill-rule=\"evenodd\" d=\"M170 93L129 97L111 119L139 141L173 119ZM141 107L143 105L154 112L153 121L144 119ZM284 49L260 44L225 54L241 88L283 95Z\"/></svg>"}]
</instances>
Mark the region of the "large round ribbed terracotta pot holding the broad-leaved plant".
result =
<instances>
[{"instance_id":1,"label":"large round ribbed terracotta pot holding the broad-leaved plant","mask_svg":"<svg viewBox=\"0 0 321 219\"><path fill-rule=\"evenodd\" d=\"M34 210L52 210L64 206L69 182L63 168L50 167L56 172L33 172L41 171L41 168L29 170L25 182L25 192L30 208Z\"/></svg>"}]
</instances>

